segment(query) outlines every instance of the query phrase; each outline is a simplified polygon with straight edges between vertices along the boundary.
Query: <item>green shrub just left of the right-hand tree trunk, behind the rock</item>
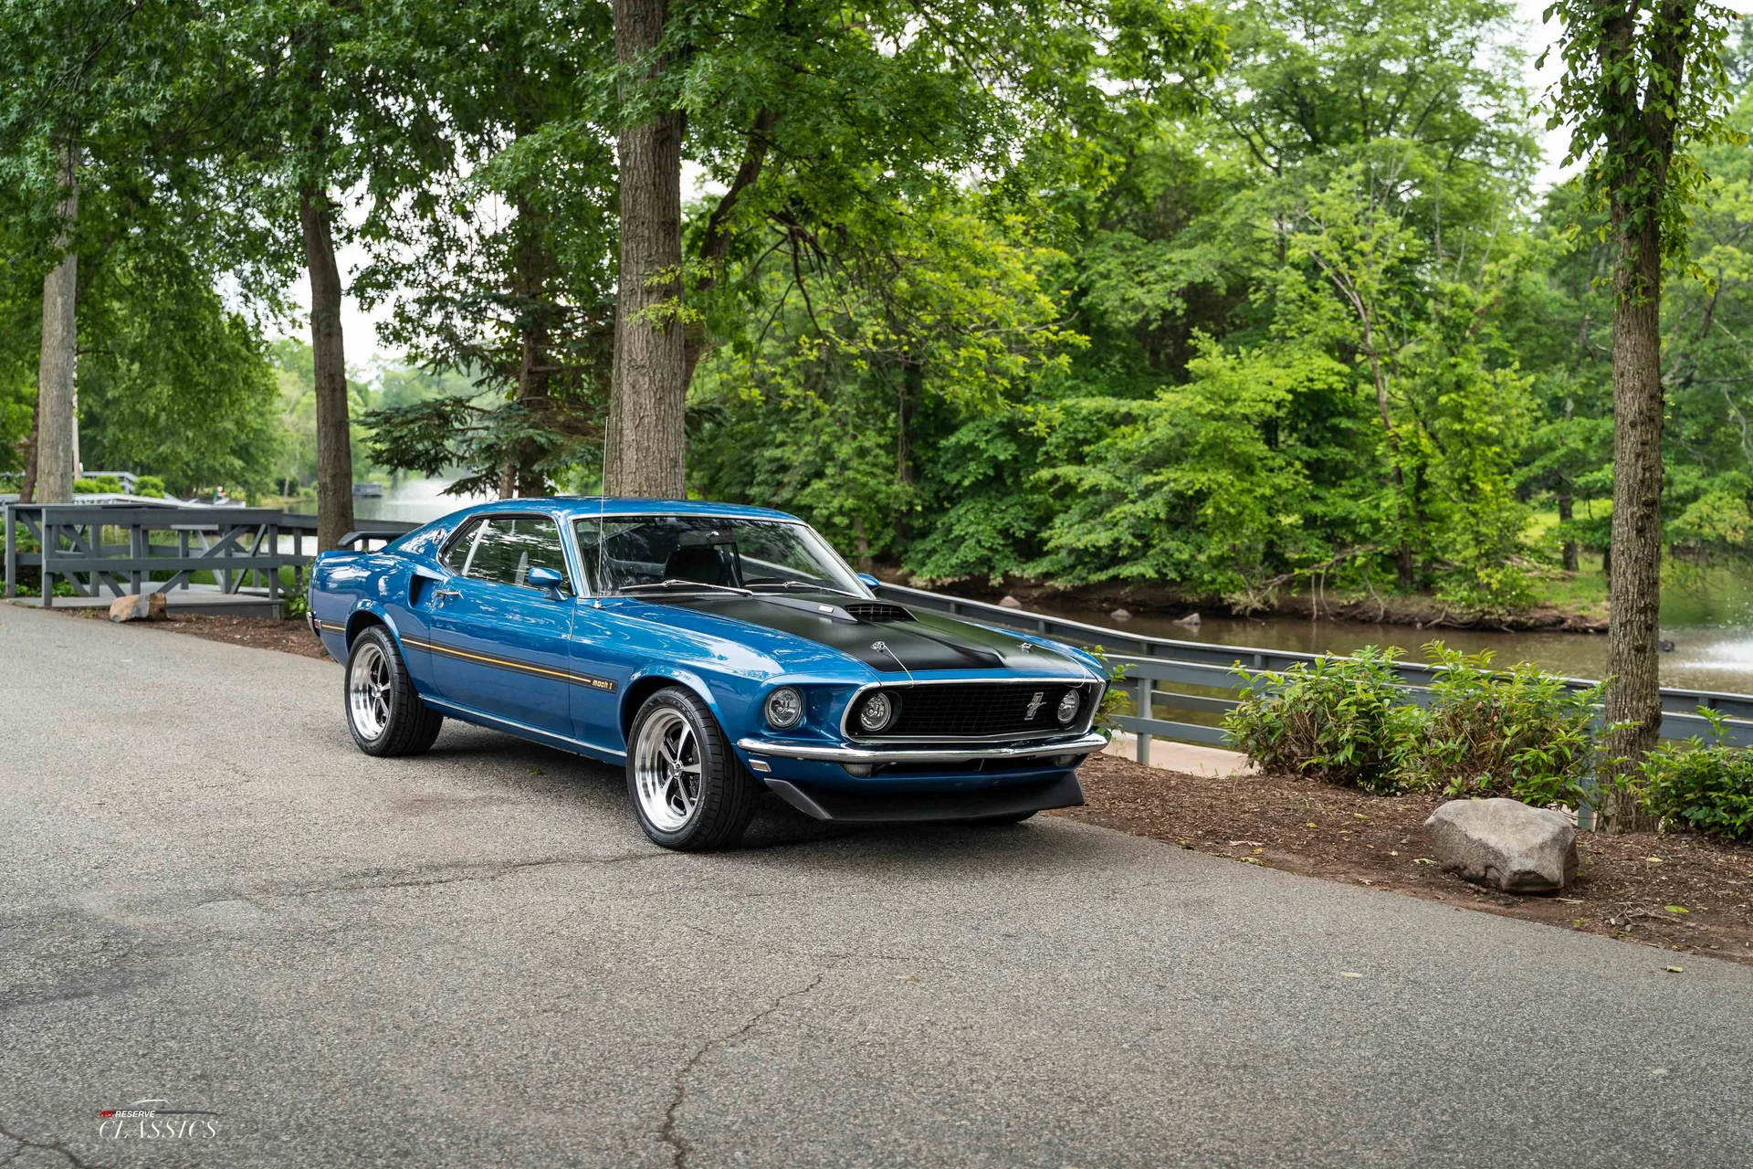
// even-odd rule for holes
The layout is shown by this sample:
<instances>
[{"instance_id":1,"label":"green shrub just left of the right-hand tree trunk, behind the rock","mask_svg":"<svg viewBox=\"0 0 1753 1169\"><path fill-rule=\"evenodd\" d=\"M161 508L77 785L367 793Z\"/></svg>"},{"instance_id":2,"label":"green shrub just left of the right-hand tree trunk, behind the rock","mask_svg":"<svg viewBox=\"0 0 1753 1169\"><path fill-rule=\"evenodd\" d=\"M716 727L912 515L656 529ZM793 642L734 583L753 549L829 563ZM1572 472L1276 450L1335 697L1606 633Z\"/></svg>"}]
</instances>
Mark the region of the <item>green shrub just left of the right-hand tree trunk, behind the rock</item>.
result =
<instances>
[{"instance_id":1,"label":"green shrub just left of the right-hand tree trunk, behind the rock","mask_svg":"<svg viewBox=\"0 0 1753 1169\"><path fill-rule=\"evenodd\" d=\"M1572 691L1529 662L1497 671L1490 650L1432 641L1425 652L1441 671L1416 743L1401 759L1401 785L1574 808L1595 766L1602 687Z\"/></svg>"}]
</instances>

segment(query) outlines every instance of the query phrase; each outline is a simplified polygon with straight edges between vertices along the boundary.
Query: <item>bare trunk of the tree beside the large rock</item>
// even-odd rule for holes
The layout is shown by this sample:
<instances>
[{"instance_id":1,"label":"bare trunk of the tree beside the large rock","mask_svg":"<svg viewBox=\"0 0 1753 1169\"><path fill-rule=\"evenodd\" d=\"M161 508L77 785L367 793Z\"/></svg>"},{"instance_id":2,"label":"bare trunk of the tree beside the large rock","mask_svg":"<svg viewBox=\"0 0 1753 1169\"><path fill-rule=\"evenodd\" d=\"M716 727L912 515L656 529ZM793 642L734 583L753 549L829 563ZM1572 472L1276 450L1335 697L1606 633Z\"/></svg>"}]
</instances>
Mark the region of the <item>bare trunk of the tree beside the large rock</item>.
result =
<instances>
[{"instance_id":1,"label":"bare trunk of the tree beside the large rock","mask_svg":"<svg viewBox=\"0 0 1753 1169\"><path fill-rule=\"evenodd\" d=\"M1618 216L1615 216L1618 217ZM1662 603L1662 263L1650 226L1622 235L1613 307L1613 577L1608 589L1606 720L1615 778L1655 747L1662 726L1658 624ZM1648 829L1623 782L1608 797L1611 831Z\"/></svg>"}]
</instances>

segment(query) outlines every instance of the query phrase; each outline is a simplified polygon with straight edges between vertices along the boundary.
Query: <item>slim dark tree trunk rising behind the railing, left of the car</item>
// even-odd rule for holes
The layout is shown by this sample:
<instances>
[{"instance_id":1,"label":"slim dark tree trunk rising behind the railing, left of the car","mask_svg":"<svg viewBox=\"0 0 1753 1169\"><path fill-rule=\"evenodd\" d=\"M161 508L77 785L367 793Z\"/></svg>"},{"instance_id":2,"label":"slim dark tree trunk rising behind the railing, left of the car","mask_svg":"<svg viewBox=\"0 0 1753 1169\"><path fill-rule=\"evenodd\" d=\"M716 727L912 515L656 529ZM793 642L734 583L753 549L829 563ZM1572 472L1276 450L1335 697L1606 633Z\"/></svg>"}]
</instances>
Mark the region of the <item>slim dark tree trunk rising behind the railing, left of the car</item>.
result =
<instances>
[{"instance_id":1,"label":"slim dark tree trunk rising behind the railing, left of the car","mask_svg":"<svg viewBox=\"0 0 1753 1169\"><path fill-rule=\"evenodd\" d=\"M317 550L340 547L352 531L352 428L347 412L347 354L340 335L340 270L335 266L333 203L324 191L298 193L298 226L310 268L310 354L317 403Z\"/></svg>"}]
</instances>

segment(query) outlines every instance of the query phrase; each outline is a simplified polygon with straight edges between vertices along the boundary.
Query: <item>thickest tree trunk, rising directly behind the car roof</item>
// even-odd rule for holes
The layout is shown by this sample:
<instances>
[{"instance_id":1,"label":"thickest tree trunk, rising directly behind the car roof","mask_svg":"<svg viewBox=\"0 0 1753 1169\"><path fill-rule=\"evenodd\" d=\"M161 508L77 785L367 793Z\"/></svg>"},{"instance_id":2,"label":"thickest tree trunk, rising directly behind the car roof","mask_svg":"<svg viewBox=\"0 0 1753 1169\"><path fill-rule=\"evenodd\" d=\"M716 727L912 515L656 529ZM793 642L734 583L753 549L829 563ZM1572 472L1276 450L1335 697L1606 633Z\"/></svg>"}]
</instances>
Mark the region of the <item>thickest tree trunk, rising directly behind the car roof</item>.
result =
<instances>
[{"instance_id":1,"label":"thickest tree trunk, rising directly behind the car roof","mask_svg":"<svg viewBox=\"0 0 1753 1169\"><path fill-rule=\"evenodd\" d=\"M670 19L666 0L615 0L615 60L650 60ZM650 60L647 75L661 68ZM622 102L633 88L622 82ZM607 494L682 498L682 114L663 110L621 130L621 282L608 393Z\"/></svg>"}]
</instances>

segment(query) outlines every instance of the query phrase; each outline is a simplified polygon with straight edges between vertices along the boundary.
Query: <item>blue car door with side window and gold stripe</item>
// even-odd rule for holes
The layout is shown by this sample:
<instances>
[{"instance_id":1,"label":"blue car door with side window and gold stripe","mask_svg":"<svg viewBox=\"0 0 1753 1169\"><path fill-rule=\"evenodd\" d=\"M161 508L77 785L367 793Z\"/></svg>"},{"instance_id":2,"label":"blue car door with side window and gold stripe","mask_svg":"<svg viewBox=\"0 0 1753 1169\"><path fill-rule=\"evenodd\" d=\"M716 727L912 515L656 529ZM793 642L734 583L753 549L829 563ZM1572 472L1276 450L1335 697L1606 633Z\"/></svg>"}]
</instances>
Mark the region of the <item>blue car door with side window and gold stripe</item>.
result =
<instances>
[{"instance_id":1,"label":"blue car door with side window and gold stripe","mask_svg":"<svg viewBox=\"0 0 1753 1169\"><path fill-rule=\"evenodd\" d=\"M554 517L484 517L445 556L456 575L431 589L428 617L440 698L570 738L575 601ZM538 589L531 568L568 585Z\"/></svg>"}]
</instances>

